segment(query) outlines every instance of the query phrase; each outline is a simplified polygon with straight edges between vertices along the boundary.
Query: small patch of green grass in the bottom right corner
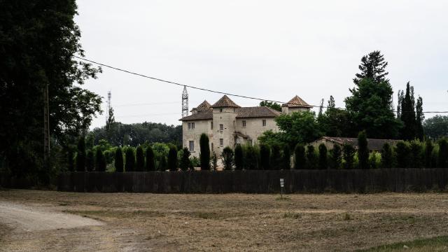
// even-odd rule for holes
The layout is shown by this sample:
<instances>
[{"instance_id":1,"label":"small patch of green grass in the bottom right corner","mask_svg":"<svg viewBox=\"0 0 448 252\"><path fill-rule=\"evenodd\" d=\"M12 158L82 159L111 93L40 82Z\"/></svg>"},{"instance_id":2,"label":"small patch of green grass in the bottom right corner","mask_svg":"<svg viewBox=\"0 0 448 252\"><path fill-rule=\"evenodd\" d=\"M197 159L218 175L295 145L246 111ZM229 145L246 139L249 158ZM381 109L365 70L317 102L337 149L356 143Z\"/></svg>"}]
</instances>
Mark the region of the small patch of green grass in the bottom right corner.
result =
<instances>
[{"instance_id":1,"label":"small patch of green grass in the bottom right corner","mask_svg":"<svg viewBox=\"0 0 448 252\"><path fill-rule=\"evenodd\" d=\"M381 245L358 251L448 251L448 236L433 237L428 239L416 239L414 241L402 241L395 244Z\"/></svg>"}]
</instances>

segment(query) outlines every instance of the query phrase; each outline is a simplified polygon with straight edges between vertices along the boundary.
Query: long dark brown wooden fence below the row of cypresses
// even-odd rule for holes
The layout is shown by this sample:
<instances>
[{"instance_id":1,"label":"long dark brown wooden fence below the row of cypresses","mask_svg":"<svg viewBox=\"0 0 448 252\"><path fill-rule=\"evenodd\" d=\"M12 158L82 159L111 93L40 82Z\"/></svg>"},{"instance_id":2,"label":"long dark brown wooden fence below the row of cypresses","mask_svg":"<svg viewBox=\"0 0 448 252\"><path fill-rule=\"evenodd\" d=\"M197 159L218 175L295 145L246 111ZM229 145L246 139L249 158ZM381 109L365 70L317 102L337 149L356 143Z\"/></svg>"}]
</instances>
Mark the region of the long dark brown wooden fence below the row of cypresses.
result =
<instances>
[{"instance_id":1,"label":"long dark brown wooden fence below the row of cypresses","mask_svg":"<svg viewBox=\"0 0 448 252\"><path fill-rule=\"evenodd\" d=\"M380 193L448 190L448 169L352 169L224 172L71 172L57 188L129 193Z\"/></svg>"}]
</instances>

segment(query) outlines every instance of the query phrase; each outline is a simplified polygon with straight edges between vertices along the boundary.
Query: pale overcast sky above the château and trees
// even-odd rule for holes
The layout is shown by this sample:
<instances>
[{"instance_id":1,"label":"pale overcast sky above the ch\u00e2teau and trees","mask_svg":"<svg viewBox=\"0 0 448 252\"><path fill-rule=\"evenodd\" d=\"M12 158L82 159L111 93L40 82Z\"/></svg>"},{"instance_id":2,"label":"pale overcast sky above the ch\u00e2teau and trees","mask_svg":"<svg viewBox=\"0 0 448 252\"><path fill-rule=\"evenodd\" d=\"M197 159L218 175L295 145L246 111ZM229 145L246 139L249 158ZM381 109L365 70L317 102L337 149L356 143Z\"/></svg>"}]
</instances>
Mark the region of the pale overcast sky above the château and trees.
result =
<instances>
[{"instance_id":1,"label":"pale overcast sky above the ch\u00e2teau and trees","mask_svg":"<svg viewBox=\"0 0 448 252\"><path fill-rule=\"evenodd\" d=\"M333 95L344 106L360 58L381 50L394 101L409 80L425 111L448 111L447 10L448 1L433 0L78 0L76 22L89 59L263 99L297 94L313 105ZM106 68L85 87L102 97L111 90L119 122L179 125L182 87ZM188 94L190 109L221 97ZM103 114L92 127L104 123Z\"/></svg>"}]
</instances>

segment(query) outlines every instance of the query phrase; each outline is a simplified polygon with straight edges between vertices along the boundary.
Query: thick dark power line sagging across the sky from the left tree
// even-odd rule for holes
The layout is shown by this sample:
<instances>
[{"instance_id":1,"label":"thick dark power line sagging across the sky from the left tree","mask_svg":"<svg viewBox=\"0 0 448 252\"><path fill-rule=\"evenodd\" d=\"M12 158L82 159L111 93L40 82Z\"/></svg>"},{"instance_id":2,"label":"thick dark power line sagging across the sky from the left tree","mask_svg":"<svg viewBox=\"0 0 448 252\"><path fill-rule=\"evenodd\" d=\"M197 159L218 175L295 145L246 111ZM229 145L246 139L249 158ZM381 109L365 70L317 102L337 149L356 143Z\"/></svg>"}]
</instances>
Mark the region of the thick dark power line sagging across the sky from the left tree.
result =
<instances>
[{"instance_id":1,"label":"thick dark power line sagging across the sky from the left tree","mask_svg":"<svg viewBox=\"0 0 448 252\"><path fill-rule=\"evenodd\" d=\"M182 86L182 87L190 87L190 88L193 88L193 89L195 89L195 90L202 90L202 91L206 91L206 92L213 92L213 93L216 93L216 94L226 94L226 95L230 95L230 96L232 96L232 97L240 97L240 98L244 98L244 99L255 99L255 100L258 100L258 101L276 102L276 103L279 103L279 104L293 104L293 103L289 103L289 102L279 102L279 101L275 101L275 100L272 100L272 99L261 99L261 98L258 98L258 97L248 97L248 96L246 96L246 95L241 95L241 94L232 94L232 93L228 93L228 92L221 92L221 91L216 91L216 90L209 90L209 89L207 89L207 88L203 88L203 87L195 87L195 86L193 86L193 85L185 85L185 84L181 84L181 83L176 83L176 82L174 82L174 81L163 80L163 79L160 79L160 78L155 78L155 77L151 77L151 76L146 76L146 75L141 74L141 73L135 73L135 72L133 72L133 71L129 71L129 70L125 70L125 69L120 69L120 68L118 68L118 67L111 66L111 65L108 65L108 64L99 63L99 62L95 62L95 61L93 61L93 60L91 60L91 59L86 59L86 58L84 58L84 57L78 57L78 56L76 56L76 55L73 55L73 57L76 57L77 59L82 59L82 60L84 60L84 61L86 61L86 62L90 62L90 63L93 63L93 64L97 64L97 65L99 65L99 66L104 66L104 67L107 67L107 68L109 68L109 69L114 69L114 70L117 70L117 71L123 71L123 72L125 72L125 73L130 73L130 74L135 75L135 76L140 76L140 77L144 77L144 78L149 78L149 79L151 79L151 80L158 80L158 81L161 81L161 82L164 82L164 83L170 83L170 84L173 84L173 85L179 85L179 86ZM297 104L293 104L293 105L297 105ZM320 108L320 107L321 107L321 106L316 106L316 105L309 105L309 106L314 107L314 108ZM332 108L332 107L328 107L328 106L322 106L322 108L325 108L325 109L346 110L346 109L343 109L343 108ZM395 113L395 112L398 112L398 111L392 111L392 112ZM414 111L400 111L400 113L412 113L412 112L414 112ZM423 111L423 113L448 113L448 111Z\"/></svg>"}]
</instances>

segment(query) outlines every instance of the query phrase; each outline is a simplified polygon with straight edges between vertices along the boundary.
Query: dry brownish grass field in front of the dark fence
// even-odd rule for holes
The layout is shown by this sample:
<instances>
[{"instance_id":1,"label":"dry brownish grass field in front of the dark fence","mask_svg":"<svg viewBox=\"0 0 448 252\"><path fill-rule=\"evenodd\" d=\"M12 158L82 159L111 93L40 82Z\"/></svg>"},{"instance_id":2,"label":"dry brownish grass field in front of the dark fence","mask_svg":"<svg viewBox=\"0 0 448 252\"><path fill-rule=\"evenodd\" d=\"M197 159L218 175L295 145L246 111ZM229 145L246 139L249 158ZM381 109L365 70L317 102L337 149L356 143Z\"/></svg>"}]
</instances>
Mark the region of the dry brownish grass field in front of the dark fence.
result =
<instances>
[{"instance_id":1,"label":"dry brownish grass field in front of the dark fence","mask_svg":"<svg viewBox=\"0 0 448 252\"><path fill-rule=\"evenodd\" d=\"M0 251L448 251L448 195L155 195L0 191L0 203L104 225L18 231ZM427 239L423 241L416 239ZM394 244L402 242L399 244ZM393 244L391 246L381 246ZM405 246L409 247L406 248Z\"/></svg>"}]
</instances>

